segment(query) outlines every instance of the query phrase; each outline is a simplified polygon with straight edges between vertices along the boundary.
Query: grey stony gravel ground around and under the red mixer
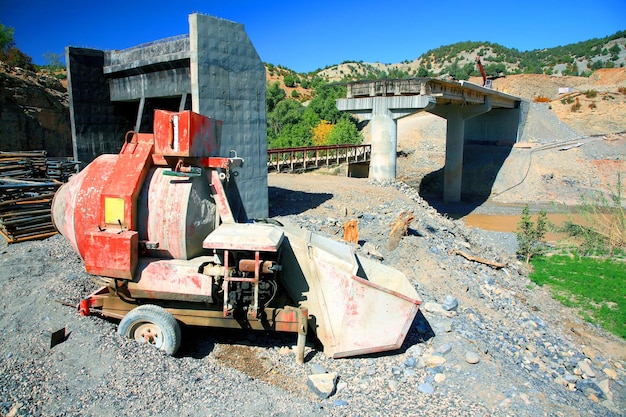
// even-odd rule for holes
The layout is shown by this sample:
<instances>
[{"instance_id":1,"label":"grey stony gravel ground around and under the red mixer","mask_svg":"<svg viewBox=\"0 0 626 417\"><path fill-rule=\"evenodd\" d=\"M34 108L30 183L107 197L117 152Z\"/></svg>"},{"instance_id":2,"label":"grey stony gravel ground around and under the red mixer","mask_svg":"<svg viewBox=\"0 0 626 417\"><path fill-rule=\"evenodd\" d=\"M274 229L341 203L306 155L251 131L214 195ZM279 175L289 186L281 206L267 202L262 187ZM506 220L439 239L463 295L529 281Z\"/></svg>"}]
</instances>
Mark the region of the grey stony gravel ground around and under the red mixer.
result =
<instances>
[{"instance_id":1,"label":"grey stony gravel ground around and under the red mixer","mask_svg":"<svg viewBox=\"0 0 626 417\"><path fill-rule=\"evenodd\" d=\"M75 304L96 287L63 237L2 244L0 414L624 415L626 344L532 285L511 234L440 216L400 182L281 174L269 193L277 219L331 238L356 218L355 250L410 278L424 303L400 350L333 360L310 337L297 365L291 335L187 328L169 357L56 301ZM387 250L402 211L415 220ZM63 327L67 339L50 348L50 332ZM328 398L307 386L333 372Z\"/></svg>"}]
</instances>

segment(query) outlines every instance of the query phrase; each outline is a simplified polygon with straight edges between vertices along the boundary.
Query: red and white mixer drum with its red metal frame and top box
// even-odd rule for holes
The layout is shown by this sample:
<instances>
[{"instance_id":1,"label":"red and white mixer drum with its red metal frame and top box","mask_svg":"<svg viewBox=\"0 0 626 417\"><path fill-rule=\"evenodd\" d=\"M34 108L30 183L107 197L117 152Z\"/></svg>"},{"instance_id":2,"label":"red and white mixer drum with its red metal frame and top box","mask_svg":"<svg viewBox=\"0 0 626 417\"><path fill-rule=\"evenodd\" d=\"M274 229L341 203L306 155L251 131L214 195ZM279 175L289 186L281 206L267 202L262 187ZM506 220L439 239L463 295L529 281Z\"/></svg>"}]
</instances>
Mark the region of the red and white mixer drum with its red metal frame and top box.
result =
<instances>
[{"instance_id":1,"label":"red and white mixer drum with its red metal frame and top box","mask_svg":"<svg viewBox=\"0 0 626 417\"><path fill-rule=\"evenodd\" d=\"M157 110L154 119L154 134L129 132L119 155L98 157L55 196L55 225L90 274L132 279L140 251L190 259L215 228L208 174L182 171L230 166L232 159L215 157L221 122L190 111ZM166 171L189 176L172 182ZM232 218L225 197L218 200Z\"/></svg>"}]
</instances>

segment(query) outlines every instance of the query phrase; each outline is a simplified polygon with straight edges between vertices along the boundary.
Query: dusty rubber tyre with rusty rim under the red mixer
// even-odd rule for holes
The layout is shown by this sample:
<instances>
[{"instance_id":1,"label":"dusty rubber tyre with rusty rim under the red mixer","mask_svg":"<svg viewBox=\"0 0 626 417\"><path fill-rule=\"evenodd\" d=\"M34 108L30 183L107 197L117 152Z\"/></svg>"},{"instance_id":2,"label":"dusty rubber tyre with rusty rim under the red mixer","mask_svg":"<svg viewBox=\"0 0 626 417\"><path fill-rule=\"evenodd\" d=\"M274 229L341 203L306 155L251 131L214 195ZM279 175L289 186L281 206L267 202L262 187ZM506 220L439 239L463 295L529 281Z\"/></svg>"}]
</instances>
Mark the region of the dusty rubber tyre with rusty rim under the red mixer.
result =
<instances>
[{"instance_id":1,"label":"dusty rubber tyre with rusty rim under the red mixer","mask_svg":"<svg viewBox=\"0 0 626 417\"><path fill-rule=\"evenodd\" d=\"M173 355L180 346L180 326L165 309L145 304L129 311L117 332L139 343L150 343L168 355Z\"/></svg>"}]
</instances>

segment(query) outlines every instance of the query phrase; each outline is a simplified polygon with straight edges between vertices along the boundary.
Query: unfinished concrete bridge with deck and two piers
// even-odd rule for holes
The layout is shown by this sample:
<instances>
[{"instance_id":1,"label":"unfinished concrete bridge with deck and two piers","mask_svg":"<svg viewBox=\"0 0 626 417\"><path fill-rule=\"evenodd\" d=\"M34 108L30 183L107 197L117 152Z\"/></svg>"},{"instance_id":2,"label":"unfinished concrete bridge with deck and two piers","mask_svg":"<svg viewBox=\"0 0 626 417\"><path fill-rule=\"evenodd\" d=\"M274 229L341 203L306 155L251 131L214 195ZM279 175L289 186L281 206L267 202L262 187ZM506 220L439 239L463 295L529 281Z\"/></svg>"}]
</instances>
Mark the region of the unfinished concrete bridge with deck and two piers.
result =
<instances>
[{"instance_id":1,"label":"unfinished concrete bridge with deck and two piers","mask_svg":"<svg viewBox=\"0 0 626 417\"><path fill-rule=\"evenodd\" d=\"M519 137L522 99L466 81L433 78L348 84L337 108L370 120L369 177L396 178L397 120L427 111L447 120L443 199L461 200L463 147L469 141L510 143Z\"/></svg>"}]
</instances>

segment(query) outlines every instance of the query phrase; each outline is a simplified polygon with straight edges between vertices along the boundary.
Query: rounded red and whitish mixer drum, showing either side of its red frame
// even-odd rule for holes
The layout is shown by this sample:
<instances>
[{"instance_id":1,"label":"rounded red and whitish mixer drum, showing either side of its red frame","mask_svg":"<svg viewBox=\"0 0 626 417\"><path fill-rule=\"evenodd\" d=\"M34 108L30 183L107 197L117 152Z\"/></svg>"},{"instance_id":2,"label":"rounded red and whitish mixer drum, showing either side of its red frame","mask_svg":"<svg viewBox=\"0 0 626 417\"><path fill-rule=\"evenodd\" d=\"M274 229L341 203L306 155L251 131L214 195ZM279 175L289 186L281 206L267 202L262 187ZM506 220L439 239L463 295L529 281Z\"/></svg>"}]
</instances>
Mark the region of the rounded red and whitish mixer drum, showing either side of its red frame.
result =
<instances>
[{"instance_id":1,"label":"rounded red and whitish mixer drum, showing either side of its red frame","mask_svg":"<svg viewBox=\"0 0 626 417\"><path fill-rule=\"evenodd\" d=\"M104 226L101 194L117 158L96 158L54 197L54 224L83 259L91 244L89 232ZM216 221L207 176L172 177L164 171L166 168L150 169L137 197L139 242L148 248L142 256L190 259L206 253L202 241Z\"/></svg>"}]
</instances>

